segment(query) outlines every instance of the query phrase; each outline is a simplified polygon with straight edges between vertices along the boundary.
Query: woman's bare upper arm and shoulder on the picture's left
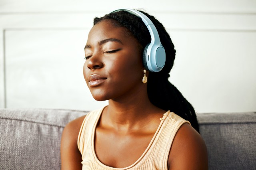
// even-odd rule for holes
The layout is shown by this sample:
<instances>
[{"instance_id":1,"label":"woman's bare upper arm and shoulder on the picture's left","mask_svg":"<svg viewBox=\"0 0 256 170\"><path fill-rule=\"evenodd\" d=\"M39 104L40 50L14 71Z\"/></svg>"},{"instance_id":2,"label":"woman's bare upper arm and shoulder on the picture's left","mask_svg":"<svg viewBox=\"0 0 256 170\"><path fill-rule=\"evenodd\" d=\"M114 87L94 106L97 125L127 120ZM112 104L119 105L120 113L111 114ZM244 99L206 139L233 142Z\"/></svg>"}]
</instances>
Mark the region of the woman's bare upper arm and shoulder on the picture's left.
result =
<instances>
[{"instance_id":1,"label":"woman's bare upper arm and shoulder on the picture's left","mask_svg":"<svg viewBox=\"0 0 256 170\"><path fill-rule=\"evenodd\" d=\"M82 155L78 150L77 138L84 117L71 121L62 132L60 143L60 157L62 170L82 169Z\"/></svg>"}]
</instances>

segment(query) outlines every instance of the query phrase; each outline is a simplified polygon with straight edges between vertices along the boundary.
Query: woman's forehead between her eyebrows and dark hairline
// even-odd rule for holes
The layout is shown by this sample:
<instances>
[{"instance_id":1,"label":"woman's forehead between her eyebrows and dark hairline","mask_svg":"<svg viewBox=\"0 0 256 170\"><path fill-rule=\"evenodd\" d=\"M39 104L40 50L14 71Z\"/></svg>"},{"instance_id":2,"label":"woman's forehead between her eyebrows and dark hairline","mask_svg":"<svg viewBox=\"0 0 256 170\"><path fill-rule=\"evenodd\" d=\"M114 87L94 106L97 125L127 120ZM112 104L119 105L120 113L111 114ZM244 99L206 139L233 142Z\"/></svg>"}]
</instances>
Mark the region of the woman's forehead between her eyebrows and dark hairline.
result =
<instances>
[{"instance_id":1,"label":"woman's forehead between her eyebrows and dark hairline","mask_svg":"<svg viewBox=\"0 0 256 170\"><path fill-rule=\"evenodd\" d=\"M114 26L111 21L104 20L92 27L87 42L98 42L107 38L124 40L132 38L132 36L129 36L129 31L126 28Z\"/></svg>"}]
</instances>

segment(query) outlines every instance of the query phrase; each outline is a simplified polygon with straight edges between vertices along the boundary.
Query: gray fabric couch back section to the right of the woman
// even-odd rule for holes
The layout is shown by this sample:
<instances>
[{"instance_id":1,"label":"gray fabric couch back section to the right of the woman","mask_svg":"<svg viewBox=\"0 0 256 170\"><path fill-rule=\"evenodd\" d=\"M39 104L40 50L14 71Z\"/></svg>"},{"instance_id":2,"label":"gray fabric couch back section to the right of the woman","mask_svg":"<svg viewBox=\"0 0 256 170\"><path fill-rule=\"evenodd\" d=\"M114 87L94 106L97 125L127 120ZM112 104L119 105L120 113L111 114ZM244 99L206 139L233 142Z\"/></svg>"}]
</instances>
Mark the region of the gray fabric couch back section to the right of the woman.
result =
<instances>
[{"instance_id":1,"label":"gray fabric couch back section to the right of the woman","mask_svg":"<svg viewBox=\"0 0 256 170\"><path fill-rule=\"evenodd\" d=\"M255 170L256 114L198 114L209 170Z\"/></svg>"}]
</instances>

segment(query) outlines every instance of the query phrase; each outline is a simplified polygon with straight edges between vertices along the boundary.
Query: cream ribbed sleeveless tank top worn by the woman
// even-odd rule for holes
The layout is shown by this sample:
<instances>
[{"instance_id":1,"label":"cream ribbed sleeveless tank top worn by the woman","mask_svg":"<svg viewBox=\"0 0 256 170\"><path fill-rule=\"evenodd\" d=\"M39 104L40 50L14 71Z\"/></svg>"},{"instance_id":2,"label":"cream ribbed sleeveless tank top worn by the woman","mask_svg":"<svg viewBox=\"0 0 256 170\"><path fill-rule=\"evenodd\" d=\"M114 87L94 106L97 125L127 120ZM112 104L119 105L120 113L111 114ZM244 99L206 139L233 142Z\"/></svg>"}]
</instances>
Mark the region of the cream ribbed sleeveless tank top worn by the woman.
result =
<instances>
[{"instance_id":1,"label":"cream ribbed sleeveless tank top worn by the woman","mask_svg":"<svg viewBox=\"0 0 256 170\"><path fill-rule=\"evenodd\" d=\"M82 154L82 170L167 170L168 156L174 136L180 126L188 121L173 112L167 111L160 119L150 144L134 162L125 168L106 166L98 160L94 149L96 125L104 108L91 111L86 115L78 135L78 149ZM190 124L190 123L189 123Z\"/></svg>"}]
</instances>

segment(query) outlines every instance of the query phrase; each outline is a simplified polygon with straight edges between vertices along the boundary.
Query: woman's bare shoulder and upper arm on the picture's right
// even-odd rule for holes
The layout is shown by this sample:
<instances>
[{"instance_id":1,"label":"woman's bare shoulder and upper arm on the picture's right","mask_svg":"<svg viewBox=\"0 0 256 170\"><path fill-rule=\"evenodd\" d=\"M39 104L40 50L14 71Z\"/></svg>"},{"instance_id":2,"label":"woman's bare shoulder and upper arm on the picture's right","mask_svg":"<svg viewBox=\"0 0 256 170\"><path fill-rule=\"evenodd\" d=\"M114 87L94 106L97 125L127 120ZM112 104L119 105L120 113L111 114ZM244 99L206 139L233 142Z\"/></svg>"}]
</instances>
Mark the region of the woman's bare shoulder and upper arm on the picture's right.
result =
<instances>
[{"instance_id":1,"label":"woman's bare shoulder and upper arm on the picture's right","mask_svg":"<svg viewBox=\"0 0 256 170\"><path fill-rule=\"evenodd\" d=\"M206 144L200 134L188 123L184 123L174 137L168 166L169 169L208 169Z\"/></svg>"}]
</instances>

